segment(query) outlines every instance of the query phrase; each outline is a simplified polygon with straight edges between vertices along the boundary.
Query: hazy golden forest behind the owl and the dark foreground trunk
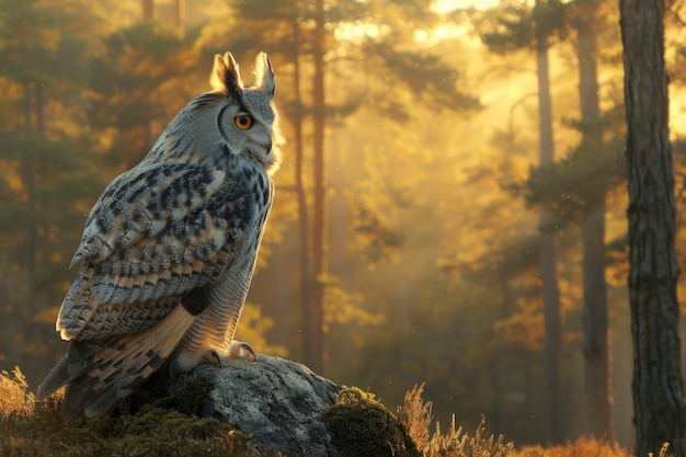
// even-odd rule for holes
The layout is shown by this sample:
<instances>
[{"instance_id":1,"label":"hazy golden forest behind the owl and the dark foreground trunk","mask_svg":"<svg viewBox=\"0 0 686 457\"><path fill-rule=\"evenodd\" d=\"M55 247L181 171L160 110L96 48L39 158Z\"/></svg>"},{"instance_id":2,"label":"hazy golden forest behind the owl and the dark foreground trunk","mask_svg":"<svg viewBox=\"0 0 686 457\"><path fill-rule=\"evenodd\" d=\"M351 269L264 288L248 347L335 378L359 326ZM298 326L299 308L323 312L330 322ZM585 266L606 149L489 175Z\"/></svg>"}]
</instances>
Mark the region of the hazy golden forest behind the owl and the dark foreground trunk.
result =
<instances>
[{"instance_id":1,"label":"hazy golden forest behind the owl and the dark foreground trunk","mask_svg":"<svg viewBox=\"0 0 686 457\"><path fill-rule=\"evenodd\" d=\"M54 322L88 212L226 50L243 69L270 54L288 141L239 340L391 407L426 382L442 423L485 415L526 444L603 430L586 376L601 335L605 433L632 443L616 1L0 0L1 369L35 388L66 351Z\"/></svg>"}]
</instances>

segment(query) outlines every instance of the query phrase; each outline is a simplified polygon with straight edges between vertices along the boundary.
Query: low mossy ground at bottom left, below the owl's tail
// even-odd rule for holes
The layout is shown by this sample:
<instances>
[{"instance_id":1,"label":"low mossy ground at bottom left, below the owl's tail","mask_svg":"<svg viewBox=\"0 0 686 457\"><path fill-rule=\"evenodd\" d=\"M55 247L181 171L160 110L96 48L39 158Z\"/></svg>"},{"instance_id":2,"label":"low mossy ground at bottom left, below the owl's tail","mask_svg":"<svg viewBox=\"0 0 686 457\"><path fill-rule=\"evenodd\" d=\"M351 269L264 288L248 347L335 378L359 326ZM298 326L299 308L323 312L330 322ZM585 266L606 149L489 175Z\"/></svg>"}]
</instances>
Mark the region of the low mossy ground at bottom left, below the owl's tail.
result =
<instances>
[{"instance_id":1,"label":"low mossy ground at bottom left, below the owl's tail","mask_svg":"<svg viewBox=\"0 0 686 457\"><path fill-rule=\"evenodd\" d=\"M0 455L245 456L259 455L250 438L215 419L144 407L118 418L64 423L59 402L36 402L31 414L0 416Z\"/></svg>"}]
</instances>

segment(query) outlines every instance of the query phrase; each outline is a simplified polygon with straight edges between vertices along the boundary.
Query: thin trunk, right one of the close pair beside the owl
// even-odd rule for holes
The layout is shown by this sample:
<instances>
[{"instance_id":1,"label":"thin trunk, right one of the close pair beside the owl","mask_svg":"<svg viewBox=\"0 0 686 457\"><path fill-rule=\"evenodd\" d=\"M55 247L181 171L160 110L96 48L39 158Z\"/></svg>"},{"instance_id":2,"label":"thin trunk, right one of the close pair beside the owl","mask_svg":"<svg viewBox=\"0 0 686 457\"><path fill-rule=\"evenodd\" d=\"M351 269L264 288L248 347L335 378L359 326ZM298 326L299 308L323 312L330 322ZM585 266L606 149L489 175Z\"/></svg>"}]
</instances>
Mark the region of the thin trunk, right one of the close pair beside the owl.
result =
<instances>
[{"instance_id":1,"label":"thin trunk, right one of the close pair beside the owl","mask_svg":"<svg viewBox=\"0 0 686 457\"><path fill-rule=\"evenodd\" d=\"M312 274L317 283L311 287L310 330L311 359L306 363L316 373L323 374L323 301L324 286L321 282L327 274L327 188L324 186L324 2L317 0L315 4L315 36L312 50L315 60L313 102L315 102L315 188L312 205Z\"/></svg>"}]
</instances>

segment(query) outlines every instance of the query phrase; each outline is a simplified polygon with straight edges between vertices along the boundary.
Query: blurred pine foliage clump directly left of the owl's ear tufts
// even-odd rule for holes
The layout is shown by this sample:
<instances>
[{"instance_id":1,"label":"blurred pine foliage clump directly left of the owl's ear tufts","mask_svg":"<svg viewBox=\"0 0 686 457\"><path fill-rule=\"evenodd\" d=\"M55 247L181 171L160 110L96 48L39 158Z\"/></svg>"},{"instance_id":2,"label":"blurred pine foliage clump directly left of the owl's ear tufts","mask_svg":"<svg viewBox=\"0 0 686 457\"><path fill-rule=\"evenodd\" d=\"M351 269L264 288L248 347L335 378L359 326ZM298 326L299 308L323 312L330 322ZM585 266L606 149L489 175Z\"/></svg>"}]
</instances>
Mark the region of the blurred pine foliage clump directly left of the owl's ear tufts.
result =
<instances>
[{"instance_id":1,"label":"blurred pine foliage clump directly left of the owl's ear tufts","mask_svg":"<svg viewBox=\"0 0 686 457\"><path fill-rule=\"evenodd\" d=\"M153 132L187 101L198 61L192 44L148 23L105 37L103 53L90 60L89 119L95 129L110 132L107 164L138 163L157 138Z\"/></svg>"}]
</instances>

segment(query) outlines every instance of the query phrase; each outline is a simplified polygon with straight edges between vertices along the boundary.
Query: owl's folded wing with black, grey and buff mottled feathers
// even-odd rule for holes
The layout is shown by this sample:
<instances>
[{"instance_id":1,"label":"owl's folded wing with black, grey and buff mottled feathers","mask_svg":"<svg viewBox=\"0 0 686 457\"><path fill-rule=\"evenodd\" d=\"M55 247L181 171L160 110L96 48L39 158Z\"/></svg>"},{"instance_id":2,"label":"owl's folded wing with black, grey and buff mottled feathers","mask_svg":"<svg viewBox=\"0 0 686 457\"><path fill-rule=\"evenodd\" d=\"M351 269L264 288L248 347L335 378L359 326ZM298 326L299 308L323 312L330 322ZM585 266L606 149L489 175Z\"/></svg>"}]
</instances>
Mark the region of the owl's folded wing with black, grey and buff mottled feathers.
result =
<instances>
[{"instance_id":1,"label":"owl's folded wing with black, grey and buff mottled feathers","mask_svg":"<svg viewBox=\"0 0 686 457\"><path fill-rule=\"evenodd\" d=\"M132 334L167 317L180 297L232 262L256 210L240 180L202 164L125 173L91 213L83 259L57 329L65 340Z\"/></svg>"}]
</instances>

